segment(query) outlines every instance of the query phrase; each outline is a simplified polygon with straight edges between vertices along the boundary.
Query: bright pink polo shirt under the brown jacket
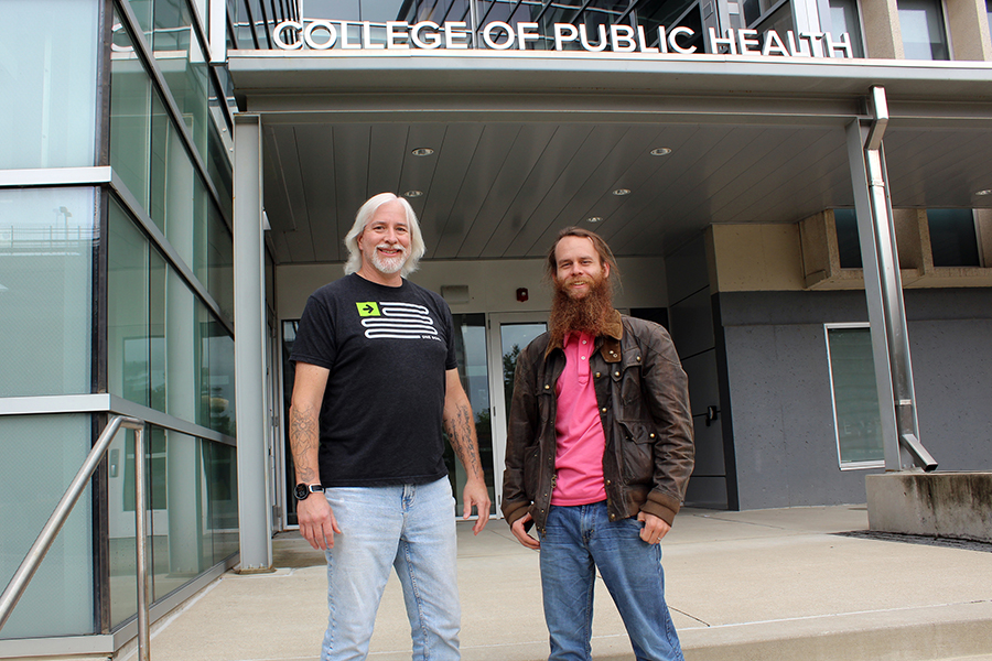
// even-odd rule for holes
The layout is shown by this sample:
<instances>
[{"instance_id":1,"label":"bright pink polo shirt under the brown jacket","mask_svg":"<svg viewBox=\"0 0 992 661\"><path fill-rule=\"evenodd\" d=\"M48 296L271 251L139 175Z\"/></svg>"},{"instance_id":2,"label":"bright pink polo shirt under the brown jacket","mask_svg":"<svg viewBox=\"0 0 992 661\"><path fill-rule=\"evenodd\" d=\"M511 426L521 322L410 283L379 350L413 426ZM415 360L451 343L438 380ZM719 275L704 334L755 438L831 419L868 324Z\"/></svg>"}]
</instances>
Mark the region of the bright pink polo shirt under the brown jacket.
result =
<instances>
[{"instance_id":1,"label":"bright pink polo shirt under the brown jacket","mask_svg":"<svg viewBox=\"0 0 992 661\"><path fill-rule=\"evenodd\" d=\"M570 333L565 337L565 367L556 384L558 451L554 469L558 479L551 492L551 505L589 505L606 500L603 484L606 435L589 369L594 340L587 333Z\"/></svg>"}]
</instances>

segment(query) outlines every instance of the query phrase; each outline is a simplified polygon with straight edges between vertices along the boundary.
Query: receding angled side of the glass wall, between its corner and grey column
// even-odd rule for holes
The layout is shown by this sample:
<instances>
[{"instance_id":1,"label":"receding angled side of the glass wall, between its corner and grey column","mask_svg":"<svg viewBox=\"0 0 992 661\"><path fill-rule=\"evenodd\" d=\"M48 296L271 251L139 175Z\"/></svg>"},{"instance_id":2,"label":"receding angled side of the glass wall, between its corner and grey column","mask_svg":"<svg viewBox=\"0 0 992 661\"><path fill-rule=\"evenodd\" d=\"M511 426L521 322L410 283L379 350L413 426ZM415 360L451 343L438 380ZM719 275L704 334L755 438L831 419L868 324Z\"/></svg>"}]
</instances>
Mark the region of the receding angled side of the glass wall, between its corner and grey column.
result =
<instances>
[{"instance_id":1,"label":"receding angled side of the glass wall, between its corner and grey column","mask_svg":"<svg viewBox=\"0 0 992 661\"><path fill-rule=\"evenodd\" d=\"M183 429L148 434L157 600L237 552L230 122L187 0L128 9L114 13L110 71L122 185L107 223L107 382ZM132 432L115 438L109 465L114 628L137 611Z\"/></svg>"}]
</instances>

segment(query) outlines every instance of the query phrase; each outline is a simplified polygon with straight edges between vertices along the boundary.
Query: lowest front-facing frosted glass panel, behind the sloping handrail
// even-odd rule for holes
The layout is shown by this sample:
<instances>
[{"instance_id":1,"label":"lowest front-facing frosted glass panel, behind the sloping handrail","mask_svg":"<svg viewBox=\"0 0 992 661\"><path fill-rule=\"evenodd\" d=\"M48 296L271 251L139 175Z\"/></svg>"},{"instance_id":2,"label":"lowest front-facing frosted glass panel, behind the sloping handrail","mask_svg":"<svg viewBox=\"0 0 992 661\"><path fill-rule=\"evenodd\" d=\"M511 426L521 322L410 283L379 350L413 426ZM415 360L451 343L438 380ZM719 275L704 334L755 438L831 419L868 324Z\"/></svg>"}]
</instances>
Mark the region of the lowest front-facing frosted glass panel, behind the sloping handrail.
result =
<instances>
[{"instance_id":1,"label":"lowest front-facing frosted glass panel, behind the sloping handrail","mask_svg":"<svg viewBox=\"0 0 992 661\"><path fill-rule=\"evenodd\" d=\"M0 577L7 585L83 465L93 427L89 415L4 415L0 438ZM94 632L91 502L87 486L0 638Z\"/></svg>"}]
</instances>

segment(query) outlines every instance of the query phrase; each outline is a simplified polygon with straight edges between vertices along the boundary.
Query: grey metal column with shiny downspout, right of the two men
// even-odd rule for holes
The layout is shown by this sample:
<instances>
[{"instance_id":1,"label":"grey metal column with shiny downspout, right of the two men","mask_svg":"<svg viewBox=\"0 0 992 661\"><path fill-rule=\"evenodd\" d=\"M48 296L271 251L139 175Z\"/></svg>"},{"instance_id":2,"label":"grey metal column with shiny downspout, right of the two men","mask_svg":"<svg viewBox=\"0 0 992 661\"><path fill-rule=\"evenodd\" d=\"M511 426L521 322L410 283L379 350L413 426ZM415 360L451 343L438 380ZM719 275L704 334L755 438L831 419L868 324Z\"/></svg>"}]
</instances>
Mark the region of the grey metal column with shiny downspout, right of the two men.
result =
<instances>
[{"instance_id":1,"label":"grey metal column with shiny downspout, right of the two men","mask_svg":"<svg viewBox=\"0 0 992 661\"><path fill-rule=\"evenodd\" d=\"M899 258L882 150L882 136L888 123L884 88L872 88L871 107L873 117L865 126L856 120L848 124L848 158L864 267L885 469L916 466L932 470L937 462L919 442Z\"/></svg>"}]
</instances>

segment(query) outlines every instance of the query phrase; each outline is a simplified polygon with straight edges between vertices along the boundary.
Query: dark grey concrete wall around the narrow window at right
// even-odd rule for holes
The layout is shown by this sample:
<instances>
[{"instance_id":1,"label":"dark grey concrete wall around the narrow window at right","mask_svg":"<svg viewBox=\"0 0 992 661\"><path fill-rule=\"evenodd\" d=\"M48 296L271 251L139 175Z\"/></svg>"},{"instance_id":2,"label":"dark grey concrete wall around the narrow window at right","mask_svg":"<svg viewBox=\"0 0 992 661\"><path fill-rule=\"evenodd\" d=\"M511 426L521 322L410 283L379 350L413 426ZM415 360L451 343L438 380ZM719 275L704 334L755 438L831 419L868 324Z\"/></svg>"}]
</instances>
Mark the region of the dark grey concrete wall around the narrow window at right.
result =
<instances>
[{"instance_id":1,"label":"dark grey concrete wall around the narrow window at right","mask_svg":"<svg viewBox=\"0 0 992 661\"><path fill-rule=\"evenodd\" d=\"M906 292L920 440L941 470L992 467L992 291ZM863 292L724 292L741 509L863 502L838 466L824 323L866 322Z\"/></svg>"}]
</instances>

